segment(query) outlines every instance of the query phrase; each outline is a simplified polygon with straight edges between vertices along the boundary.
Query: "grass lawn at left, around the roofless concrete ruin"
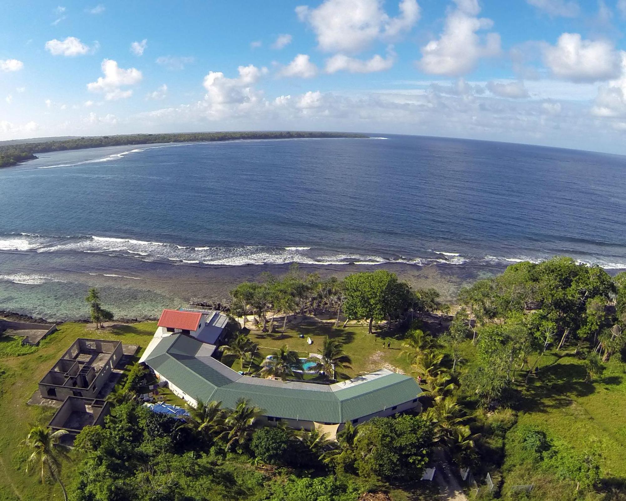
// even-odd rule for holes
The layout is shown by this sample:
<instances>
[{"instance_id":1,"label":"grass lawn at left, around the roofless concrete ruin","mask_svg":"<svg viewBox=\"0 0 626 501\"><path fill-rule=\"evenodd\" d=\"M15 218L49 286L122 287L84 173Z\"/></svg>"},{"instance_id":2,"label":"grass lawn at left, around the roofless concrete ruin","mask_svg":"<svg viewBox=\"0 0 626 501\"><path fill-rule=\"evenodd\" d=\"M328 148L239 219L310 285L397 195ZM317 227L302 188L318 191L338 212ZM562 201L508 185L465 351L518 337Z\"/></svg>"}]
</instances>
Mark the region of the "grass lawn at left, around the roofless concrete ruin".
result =
<instances>
[{"instance_id":1,"label":"grass lawn at left, around the roofless concrete ruin","mask_svg":"<svg viewBox=\"0 0 626 501\"><path fill-rule=\"evenodd\" d=\"M28 455L18 447L31 425L47 425L54 414L54 409L28 406L26 401L59 356L76 338L114 339L145 348L155 329L155 322L100 331L86 329L84 324L66 323L32 353L13 356L8 354L13 352L13 346L0 349L0 500L62 499L61 489L56 484L41 485L36 475L26 475ZM4 343L13 341L9 339Z\"/></svg>"}]
</instances>

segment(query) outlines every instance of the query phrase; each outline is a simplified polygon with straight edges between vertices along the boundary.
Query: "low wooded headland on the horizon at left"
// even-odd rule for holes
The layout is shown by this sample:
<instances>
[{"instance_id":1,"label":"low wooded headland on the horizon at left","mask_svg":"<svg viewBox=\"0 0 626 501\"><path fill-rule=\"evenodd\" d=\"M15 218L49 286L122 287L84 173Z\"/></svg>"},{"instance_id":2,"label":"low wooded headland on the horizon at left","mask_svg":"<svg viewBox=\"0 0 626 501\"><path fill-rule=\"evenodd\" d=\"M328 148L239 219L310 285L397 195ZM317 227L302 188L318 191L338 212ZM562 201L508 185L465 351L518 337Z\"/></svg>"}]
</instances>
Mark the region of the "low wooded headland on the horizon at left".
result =
<instances>
[{"instance_id":1,"label":"low wooded headland on the horizon at left","mask_svg":"<svg viewBox=\"0 0 626 501\"><path fill-rule=\"evenodd\" d=\"M233 141L242 139L299 139L299 138L367 138L365 134L349 132L312 131L252 131L252 132L191 132L165 134L126 134L115 136L79 137L45 142L13 143L0 146L0 167L11 167L37 158L35 153L82 150L105 146L145 145L154 143L187 143L205 141Z\"/></svg>"}]
</instances>

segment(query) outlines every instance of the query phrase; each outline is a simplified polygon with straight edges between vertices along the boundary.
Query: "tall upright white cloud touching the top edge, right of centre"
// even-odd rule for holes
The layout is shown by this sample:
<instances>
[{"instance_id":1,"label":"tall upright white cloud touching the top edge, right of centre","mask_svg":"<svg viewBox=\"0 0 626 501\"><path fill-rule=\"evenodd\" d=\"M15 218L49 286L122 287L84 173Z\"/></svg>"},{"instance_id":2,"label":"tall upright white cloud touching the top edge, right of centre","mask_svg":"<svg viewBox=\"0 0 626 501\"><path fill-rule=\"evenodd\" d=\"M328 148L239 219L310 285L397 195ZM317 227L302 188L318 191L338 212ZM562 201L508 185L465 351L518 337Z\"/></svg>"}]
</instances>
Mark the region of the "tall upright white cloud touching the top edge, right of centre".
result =
<instances>
[{"instance_id":1,"label":"tall upright white cloud touching the top edge, right of centre","mask_svg":"<svg viewBox=\"0 0 626 501\"><path fill-rule=\"evenodd\" d=\"M478 0L454 0L456 9L448 11L443 33L422 47L419 68L431 75L460 76L472 71L478 60L500 54L500 35L476 32L491 29L493 21L478 18ZM481 38L484 38L481 39Z\"/></svg>"}]
</instances>

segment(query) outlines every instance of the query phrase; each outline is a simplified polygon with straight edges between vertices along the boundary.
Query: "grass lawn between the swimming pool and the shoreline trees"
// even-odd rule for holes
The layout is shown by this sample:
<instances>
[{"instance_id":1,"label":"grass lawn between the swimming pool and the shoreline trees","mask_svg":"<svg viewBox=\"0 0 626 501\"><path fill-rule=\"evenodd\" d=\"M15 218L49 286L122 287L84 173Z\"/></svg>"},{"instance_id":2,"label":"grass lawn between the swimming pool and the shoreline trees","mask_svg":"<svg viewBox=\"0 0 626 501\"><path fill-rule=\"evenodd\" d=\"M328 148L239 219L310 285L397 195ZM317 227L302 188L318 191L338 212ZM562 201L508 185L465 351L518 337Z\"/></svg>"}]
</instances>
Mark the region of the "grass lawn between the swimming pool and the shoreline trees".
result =
<instances>
[{"instance_id":1,"label":"grass lawn between the swimming pool and the shoreline trees","mask_svg":"<svg viewBox=\"0 0 626 501\"><path fill-rule=\"evenodd\" d=\"M282 327L282 325L280 325ZM250 339L259 343L262 356L270 354L272 350L287 344L289 349L297 351L302 358L309 356L309 353L317 353L321 349L324 338L340 339L343 349L352 358L352 369L347 369L349 376L364 374L381 368L388 368L395 371L411 373L409 363L400 356L402 351L401 338L403 334L387 331L374 331L374 334L367 333L367 325L348 325L345 329L335 328L333 323L319 323L314 320L305 320L302 323L287 326L285 333L277 332L273 334L261 333L260 331L250 332ZM304 338L300 338L302 334ZM307 344L307 338L311 338L313 344ZM391 343L391 348L387 349L387 342ZM235 369L239 369L239 361L233 364Z\"/></svg>"}]
</instances>

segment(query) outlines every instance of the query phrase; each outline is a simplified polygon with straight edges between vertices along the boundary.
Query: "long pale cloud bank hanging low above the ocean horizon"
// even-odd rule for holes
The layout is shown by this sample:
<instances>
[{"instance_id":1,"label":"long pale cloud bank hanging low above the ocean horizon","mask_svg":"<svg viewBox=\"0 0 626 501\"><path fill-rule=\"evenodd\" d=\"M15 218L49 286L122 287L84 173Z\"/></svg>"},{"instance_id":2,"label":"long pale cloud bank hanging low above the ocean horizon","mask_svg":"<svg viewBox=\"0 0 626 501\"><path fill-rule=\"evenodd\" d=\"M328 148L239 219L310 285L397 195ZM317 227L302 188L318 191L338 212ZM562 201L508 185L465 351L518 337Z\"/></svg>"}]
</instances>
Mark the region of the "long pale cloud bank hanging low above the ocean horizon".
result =
<instances>
[{"instance_id":1,"label":"long pale cloud bank hanging low above the ocean horizon","mask_svg":"<svg viewBox=\"0 0 626 501\"><path fill-rule=\"evenodd\" d=\"M140 123L145 130L155 131L173 127L379 130L626 152L625 130L619 130L626 119L590 116L588 104L570 100L567 93L563 100L550 96L558 92L536 93L531 84L541 85L541 80L525 82L533 99L523 100L497 98L485 90L486 82L463 79L431 87L431 81L415 82L419 89L352 89L344 93L304 89L297 94L265 96L255 89L264 73L254 66L240 68L235 78L210 73L205 78L205 99L140 113L131 116L128 123ZM554 85L557 90L559 85L582 86L588 93L594 87L549 82L550 88ZM403 85L411 83L405 81ZM595 133L590 135L589 130Z\"/></svg>"}]
</instances>

